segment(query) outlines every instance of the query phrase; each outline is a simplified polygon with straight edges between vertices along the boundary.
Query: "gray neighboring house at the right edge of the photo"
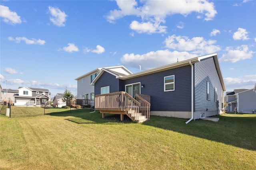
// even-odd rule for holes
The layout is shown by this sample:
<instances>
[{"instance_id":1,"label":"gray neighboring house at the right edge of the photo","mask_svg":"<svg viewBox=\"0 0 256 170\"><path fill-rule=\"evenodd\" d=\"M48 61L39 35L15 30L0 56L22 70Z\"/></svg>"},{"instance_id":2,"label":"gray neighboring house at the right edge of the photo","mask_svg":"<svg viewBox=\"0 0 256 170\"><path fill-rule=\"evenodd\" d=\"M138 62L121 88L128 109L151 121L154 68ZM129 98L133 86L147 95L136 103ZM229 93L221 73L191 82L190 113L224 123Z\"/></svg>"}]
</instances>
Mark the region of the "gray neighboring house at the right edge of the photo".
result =
<instances>
[{"instance_id":1,"label":"gray neighboring house at the right edge of the photo","mask_svg":"<svg viewBox=\"0 0 256 170\"><path fill-rule=\"evenodd\" d=\"M235 89L233 92L226 92L225 102L228 104L226 111L241 113L254 113L256 111L256 89Z\"/></svg>"}]
</instances>

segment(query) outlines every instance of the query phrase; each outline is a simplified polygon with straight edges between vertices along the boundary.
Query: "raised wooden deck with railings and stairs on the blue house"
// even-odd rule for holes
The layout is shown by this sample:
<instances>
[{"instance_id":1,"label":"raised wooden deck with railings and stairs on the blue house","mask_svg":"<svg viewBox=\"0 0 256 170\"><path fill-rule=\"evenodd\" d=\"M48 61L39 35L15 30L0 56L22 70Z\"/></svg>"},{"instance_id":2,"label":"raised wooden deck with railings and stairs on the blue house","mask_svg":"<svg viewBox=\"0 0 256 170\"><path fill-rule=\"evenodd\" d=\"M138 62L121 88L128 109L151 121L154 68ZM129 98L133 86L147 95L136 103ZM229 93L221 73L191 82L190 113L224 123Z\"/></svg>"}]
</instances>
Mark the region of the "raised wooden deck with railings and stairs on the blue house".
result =
<instances>
[{"instance_id":1,"label":"raised wooden deck with railings and stairs on the blue house","mask_svg":"<svg viewBox=\"0 0 256 170\"><path fill-rule=\"evenodd\" d=\"M121 121L124 115L137 122L150 119L150 96L136 94L136 99L126 92L115 92L95 96L95 110L104 114L120 114Z\"/></svg>"}]
</instances>

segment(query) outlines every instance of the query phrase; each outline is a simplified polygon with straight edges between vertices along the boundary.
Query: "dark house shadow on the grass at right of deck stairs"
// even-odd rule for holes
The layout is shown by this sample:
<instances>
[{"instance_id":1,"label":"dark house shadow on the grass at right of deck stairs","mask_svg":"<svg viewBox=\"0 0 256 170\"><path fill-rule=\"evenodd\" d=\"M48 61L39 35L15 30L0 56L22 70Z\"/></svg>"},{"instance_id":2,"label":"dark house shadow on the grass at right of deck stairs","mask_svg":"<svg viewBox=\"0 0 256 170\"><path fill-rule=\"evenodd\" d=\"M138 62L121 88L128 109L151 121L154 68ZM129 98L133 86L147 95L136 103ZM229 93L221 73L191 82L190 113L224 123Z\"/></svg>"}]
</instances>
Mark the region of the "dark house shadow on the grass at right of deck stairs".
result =
<instances>
[{"instance_id":1,"label":"dark house shadow on the grass at right of deck stairs","mask_svg":"<svg viewBox=\"0 0 256 170\"><path fill-rule=\"evenodd\" d=\"M143 125L158 127L210 141L256 150L256 117L226 117L218 115L218 122L151 116Z\"/></svg>"}]
</instances>

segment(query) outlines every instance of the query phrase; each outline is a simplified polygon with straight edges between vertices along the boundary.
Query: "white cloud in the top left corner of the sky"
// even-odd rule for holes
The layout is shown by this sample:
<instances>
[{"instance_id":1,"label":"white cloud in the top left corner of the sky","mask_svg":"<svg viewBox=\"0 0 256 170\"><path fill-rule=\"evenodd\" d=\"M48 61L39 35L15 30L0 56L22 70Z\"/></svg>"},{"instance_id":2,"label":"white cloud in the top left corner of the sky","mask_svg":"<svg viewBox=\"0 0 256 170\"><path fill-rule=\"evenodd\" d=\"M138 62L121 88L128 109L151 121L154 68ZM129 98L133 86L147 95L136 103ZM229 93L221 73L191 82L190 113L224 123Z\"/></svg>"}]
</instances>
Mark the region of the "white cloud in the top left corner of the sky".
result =
<instances>
[{"instance_id":1,"label":"white cloud in the top left corner of the sky","mask_svg":"<svg viewBox=\"0 0 256 170\"><path fill-rule=\"evenodd\" d=\"M3 18L4 22L15 25L21 23L20 16L16 12L9 10L9 7L0 5L0 16Z\"/></svg>"}]
</instances>

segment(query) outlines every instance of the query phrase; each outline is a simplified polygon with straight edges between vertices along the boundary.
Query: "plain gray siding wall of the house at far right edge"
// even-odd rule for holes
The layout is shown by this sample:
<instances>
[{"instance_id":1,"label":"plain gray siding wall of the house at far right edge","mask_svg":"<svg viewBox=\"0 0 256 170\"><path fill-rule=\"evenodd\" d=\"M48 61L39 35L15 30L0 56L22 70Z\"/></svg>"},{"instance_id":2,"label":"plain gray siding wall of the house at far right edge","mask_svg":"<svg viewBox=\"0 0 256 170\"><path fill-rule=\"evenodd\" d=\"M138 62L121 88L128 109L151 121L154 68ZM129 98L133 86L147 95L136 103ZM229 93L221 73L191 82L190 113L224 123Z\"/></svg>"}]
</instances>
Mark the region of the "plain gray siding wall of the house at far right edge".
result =
<instances>
[{"instance_id":1,"label":"plain gray siding wall of the house at far right edge","mask_svg":"<svg viewBox=\"0 0 256 170\"><path fill-rule=\"evenodd\" d=\"M238 93L238 111L252 113L252 110L256 110L256 92L251 89Z\"/></svg>"}]
</instances>

